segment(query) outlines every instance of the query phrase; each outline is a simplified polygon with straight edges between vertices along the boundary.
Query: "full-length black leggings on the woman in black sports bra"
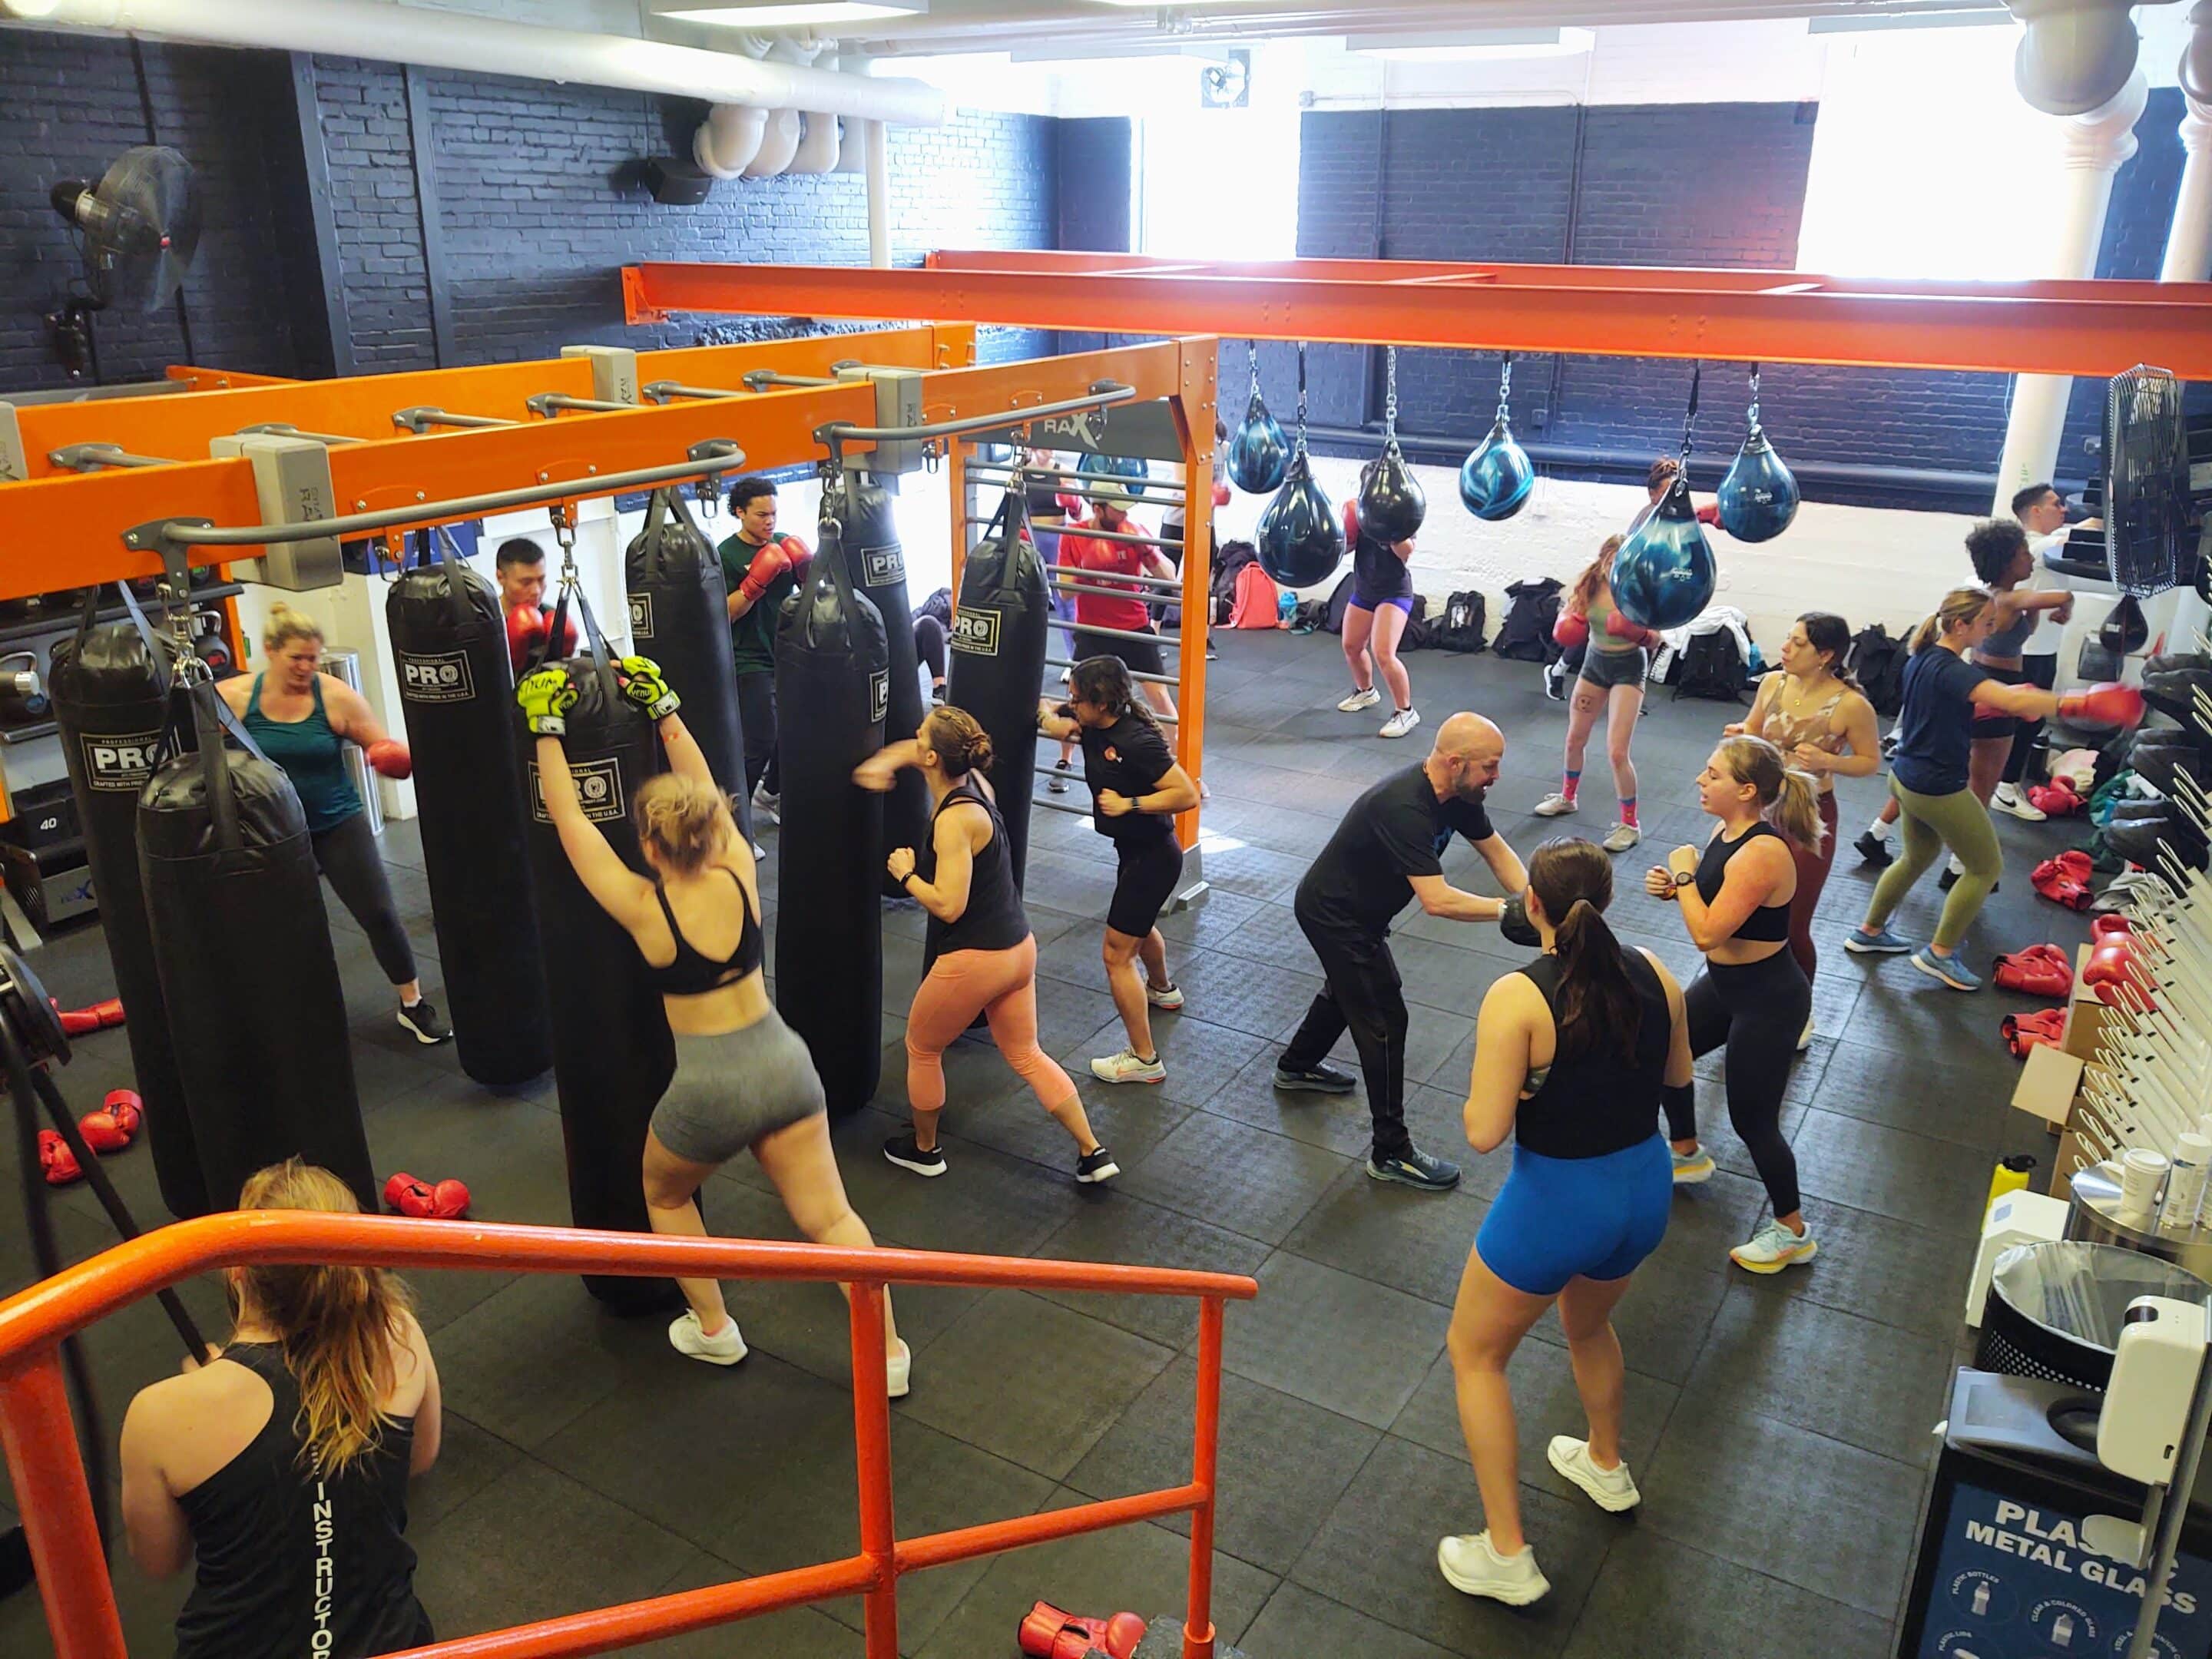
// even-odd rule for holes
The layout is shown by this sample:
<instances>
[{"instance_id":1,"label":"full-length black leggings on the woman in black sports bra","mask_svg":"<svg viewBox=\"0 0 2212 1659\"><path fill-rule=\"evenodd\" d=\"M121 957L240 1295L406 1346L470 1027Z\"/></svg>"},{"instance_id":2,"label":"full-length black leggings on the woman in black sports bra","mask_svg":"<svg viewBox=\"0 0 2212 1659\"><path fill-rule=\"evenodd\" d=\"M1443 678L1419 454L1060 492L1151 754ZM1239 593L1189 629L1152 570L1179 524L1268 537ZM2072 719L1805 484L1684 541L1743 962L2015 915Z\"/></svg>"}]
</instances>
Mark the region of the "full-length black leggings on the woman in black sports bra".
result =
<instances>
[{"instance_id":1,"label":"full-length black leggings on the woman in black sports bra","mask_svg":"<svg viewBox=\"0 0 2212 1659\"><path fill-rule=\"evenodd\" d=\"M1812 1013L1805 969L1787 947L1743 967L1705 962L1705 971L1683 993L1683 1013L1690 1020L1692 1055L1710 1055L1728 1044L1728 1121L1752 1150L1774 1214L1794 1214L1796 1152L1783 1139L1783 1091L1790 1088L1798 1031ZM1681 1121L1683 1117L1690 1121ZM1697 1139L1694 1106L1670 1106L1666 1133L1677 1141Z\"/></svg>"}]
</instances>

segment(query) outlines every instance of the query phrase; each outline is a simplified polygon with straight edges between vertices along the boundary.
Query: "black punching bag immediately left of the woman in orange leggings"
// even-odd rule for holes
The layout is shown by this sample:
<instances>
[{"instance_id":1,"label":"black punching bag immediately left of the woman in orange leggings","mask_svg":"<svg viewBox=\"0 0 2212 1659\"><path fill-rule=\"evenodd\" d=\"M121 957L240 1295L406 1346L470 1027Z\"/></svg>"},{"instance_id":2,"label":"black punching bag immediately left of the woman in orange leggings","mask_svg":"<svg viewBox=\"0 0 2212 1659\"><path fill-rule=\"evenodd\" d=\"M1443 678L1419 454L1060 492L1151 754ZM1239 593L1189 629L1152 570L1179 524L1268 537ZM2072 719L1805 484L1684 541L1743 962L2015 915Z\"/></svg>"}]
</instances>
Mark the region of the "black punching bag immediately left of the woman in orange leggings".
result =
<instances>
[{"instance_id":1,"label":"black punching bag immediately left of the woman in orange leggings","mask_svg":"<svg viewBox=\"0 0 2212 1659\"><path fill-rule=\"evenodd\" d=\"M883 748L887 699L883 615L852 582L838 522L823 520L776 626L776 1009L814 1053L832 1117L867 1106L883 1077L883 796L852 770Z\"/></svg>"}]
</instances>

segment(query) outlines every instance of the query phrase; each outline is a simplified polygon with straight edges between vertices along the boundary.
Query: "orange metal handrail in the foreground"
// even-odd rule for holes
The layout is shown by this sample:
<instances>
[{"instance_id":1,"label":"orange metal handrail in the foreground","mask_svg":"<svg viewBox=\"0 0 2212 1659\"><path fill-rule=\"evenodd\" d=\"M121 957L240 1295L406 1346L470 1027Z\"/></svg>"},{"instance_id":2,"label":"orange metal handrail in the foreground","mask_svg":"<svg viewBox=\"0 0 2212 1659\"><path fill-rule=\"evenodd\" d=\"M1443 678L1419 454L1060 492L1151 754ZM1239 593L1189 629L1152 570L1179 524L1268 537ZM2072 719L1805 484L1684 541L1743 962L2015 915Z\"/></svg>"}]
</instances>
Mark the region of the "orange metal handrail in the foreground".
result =
<instances>
[{"instance_id":1,"label":"orange metal handrail in the foreground","mask_svg":"<svg viewBox=\"0 0 2212 1659\"><path fill-rule=\"evenodd\" d=\"M898 1577L1055 1537L1190 1513L1183 1659L1212 1659L1214 1451L1221 1433L1221 1312L1259 1285L1241 1274L1073 1261L845 1250L761 1239L659 1239L582 1228L403 1221L241 1210L148 1232L0 1303L0 1447L7 1451L58 1659L126 1659L106 1551L77 1455L58 1345L142 1296L212 1267L493 1267L686 1279L841 1281L852 1287L852 1416L860 1473L860 1548L838 1562L703 1590L591 1608L416 1648L414 1659L566 1659L701 1630L838 1595L867 1599L867 1659L898 1659ZM885 1285L1097 1290L1199 1298L1197 1436L1190 1482L1020 1515L951 1533L898 1537L891 1524L891 1402L885 1383Z\"/></svg>"}]
</instances>

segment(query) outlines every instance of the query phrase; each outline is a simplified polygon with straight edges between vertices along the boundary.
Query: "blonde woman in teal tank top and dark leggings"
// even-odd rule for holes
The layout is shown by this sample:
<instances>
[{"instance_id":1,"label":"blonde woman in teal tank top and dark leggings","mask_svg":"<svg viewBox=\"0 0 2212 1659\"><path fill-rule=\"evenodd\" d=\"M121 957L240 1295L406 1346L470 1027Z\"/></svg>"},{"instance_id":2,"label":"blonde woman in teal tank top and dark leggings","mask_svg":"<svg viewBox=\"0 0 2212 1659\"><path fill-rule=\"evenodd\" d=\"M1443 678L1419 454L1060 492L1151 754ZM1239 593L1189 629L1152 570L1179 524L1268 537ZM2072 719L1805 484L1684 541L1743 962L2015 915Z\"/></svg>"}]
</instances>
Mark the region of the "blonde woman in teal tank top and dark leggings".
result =
<instances>
[{"instance_id":1,"label":"blonde woman in teal tank top and dark leggings","mask_svg":"<svg viewBox=\"0 0 2212 1659\"><path fill-rule=\"evenodd\" d=\"M307 814L314 863L369 936L376 964L398 991L400 1026L416 1042L445 1042L453 1029L422 995L414 947L392 902L385 860L376 852L361 792L345 770L345 745L358 743L367 750L369 765L403 779L409 772L407 745L392 739L361 692L321 672L323 630L312 617L279 604L270 611L261 648L268 653L268 668L252 679L234 675L217 690L261 752L292 779Z\"/></svg>"}]
</instances>

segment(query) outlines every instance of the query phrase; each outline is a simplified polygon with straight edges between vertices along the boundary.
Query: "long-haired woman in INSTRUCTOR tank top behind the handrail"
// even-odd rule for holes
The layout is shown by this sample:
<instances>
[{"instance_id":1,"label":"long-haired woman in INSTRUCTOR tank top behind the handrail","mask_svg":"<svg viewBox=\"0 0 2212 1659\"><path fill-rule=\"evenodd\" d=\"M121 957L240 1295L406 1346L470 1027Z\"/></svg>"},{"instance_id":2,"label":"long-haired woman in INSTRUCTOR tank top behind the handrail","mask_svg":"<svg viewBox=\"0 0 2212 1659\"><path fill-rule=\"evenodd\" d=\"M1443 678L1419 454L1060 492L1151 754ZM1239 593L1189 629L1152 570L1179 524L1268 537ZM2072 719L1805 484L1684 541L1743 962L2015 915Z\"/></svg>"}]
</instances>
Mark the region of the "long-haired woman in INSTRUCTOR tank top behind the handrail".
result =
<instances>
[{"instance_id":1,"label":"long-haired woman in INSTRUCTOR tank top behind the handrail","mask_svg":"<svg viewBox=\"0 0 2212 1659\"><path fill-rule=\"evenodd\" d=\"M330 1170L259 1170L241 1210L358 1214ZM400 1652L436 1641L414 1593L407 1478L438 1460L438 1365L380 1267L230 1267L230 1340L124 1418L124 1528L148 1577L197 1559L179 1659Z\"/></svg>"}]
</instances>

